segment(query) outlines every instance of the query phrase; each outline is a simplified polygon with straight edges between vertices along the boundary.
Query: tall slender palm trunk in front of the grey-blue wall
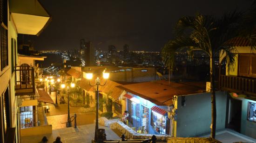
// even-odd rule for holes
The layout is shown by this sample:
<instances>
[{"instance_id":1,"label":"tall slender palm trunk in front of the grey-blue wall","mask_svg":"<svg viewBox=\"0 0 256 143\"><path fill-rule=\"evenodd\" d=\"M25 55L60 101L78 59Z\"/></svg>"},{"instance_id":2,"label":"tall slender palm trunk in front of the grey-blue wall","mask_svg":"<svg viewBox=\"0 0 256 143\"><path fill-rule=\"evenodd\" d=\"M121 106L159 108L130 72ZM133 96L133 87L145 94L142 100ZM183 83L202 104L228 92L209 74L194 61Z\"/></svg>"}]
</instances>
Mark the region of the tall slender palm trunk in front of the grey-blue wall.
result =
<instances>
[{"instance_id":1,"label":"tall slender palm trunk in front of the grey-blue wall","mask_svg":"<svg viewBox=\"0 0 256 143\"><path fill-rule=\"evenodd\" d=\"M210 58L210 82L211 82L211 110L212 110L212 121L211 121L211 137L215 138L216 134L216 94L215 94L215 83L214 83L214 58Z\"/></svg>"}]
</instances>

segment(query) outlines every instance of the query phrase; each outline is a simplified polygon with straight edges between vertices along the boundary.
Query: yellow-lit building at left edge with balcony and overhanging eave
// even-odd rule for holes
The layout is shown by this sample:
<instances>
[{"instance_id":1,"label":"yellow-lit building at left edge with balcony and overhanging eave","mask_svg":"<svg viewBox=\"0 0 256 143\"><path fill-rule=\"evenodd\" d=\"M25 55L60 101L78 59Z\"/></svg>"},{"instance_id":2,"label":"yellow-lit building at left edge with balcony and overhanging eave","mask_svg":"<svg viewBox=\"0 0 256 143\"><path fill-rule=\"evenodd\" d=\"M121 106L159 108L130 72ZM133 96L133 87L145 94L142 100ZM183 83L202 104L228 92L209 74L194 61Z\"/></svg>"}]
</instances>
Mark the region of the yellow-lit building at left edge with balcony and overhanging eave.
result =
<instances>
[{"instance_id":1,"label":"yellow-lit building at left edge with balcony and overhanging eave","mask_svg":"<svg viewBox=\"0 0 256 143\"><path fill-rule=\"evenodd\" d=\"M32 67L19 68L18 33L39 35L51 16L37 0L1 0L0 9L0 143L19 143L18 95L35 94L35 86L34 77L17 76L18 72L34 74Z\"/></svg>"}]
</instances>

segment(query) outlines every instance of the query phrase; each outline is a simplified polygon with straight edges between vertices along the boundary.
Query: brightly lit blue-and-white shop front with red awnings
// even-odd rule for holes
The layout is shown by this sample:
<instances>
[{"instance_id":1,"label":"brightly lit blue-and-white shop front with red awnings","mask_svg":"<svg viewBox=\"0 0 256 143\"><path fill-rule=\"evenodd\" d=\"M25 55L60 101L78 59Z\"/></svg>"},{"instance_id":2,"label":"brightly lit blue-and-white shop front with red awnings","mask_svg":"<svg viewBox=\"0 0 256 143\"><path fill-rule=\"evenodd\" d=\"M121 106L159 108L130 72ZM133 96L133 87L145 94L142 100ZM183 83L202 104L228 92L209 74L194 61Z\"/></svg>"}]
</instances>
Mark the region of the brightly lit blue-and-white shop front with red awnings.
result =
<instances>
[{"instance_id":1,"label":"brightly lit blue-and-white shop front with red awnings","mask_svg":"<svg viewBox=\"0 0 256 143\"><path fill-rule=\"evenodd\" d=\"M167 111L141 97L126 94L128 126L143 134L169 134Z\"/></svg>"}]
</instances>

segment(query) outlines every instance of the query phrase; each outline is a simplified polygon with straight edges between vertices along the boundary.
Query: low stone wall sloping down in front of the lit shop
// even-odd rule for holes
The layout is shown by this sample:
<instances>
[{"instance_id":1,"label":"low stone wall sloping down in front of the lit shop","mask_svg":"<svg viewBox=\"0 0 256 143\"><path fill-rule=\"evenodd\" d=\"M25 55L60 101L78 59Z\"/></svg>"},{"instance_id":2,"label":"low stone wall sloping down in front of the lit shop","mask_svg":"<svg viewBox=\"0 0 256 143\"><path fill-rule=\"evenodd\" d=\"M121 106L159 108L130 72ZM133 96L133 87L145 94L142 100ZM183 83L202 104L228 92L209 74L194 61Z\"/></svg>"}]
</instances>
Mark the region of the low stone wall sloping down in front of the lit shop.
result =
<instances>
[{"instance_id":1,"label":"low stone wall sloping down in front of the lit shop","mask_svg":"<svg viewBox=\"0 0 256 143\"><path fill-rule=\"evenodd\" d=\"M137 133L135 130L132 130L126 124L122 122L115 122L109 125L112 130L119 130L122 134L125 135L128 139L150 139L152 134L141 134ZM168 138L171 138L169 135L155 135L156 141L158 142L167 142Z\"/></svg>"}]
</instances>

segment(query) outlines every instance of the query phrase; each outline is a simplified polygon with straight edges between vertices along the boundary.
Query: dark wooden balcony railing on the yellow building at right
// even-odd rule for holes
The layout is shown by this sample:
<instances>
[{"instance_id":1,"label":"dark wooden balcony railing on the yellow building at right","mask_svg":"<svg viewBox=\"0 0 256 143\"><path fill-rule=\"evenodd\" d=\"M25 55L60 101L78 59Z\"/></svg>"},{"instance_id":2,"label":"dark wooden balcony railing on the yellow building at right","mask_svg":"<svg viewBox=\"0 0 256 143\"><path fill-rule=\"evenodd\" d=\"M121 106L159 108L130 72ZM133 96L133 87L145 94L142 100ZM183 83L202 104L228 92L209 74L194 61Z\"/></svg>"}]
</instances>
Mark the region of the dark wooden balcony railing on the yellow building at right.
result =
<instances>
[{"instance_id":1,"label":"dark wooden balcony railing on the yellow building at right","mask_svg":"<svg viewBox=\"0 0 256 143\"><path fill-rule=\"evenodd\" d=\"M221 90L256 96L256 78L220 75L219 88Z\"/></svg>"}]
</instances>

